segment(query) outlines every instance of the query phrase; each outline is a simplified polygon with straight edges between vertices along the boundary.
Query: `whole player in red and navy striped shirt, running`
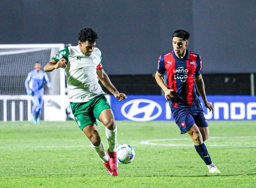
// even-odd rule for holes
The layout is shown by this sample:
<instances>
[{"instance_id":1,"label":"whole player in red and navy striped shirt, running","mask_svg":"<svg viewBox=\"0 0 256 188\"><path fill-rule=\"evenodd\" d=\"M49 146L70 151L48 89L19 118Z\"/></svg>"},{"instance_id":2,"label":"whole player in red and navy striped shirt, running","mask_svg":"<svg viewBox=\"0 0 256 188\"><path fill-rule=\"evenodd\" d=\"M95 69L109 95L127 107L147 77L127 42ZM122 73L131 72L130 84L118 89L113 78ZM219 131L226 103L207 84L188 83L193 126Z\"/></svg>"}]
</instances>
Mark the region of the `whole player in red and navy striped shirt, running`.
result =
<instances>
[{"instance_id":1,"label":"whole player in red and navy striped shirt, running","mask_svg":"<svg viewBox=\"0 0 256 188\"><path fill-rule=\"evenodd\" d=\"M209 137L209 128L196 88L204 106L212 112L213 107L207 101L204 91L201 57L186 49L189 35L189 32L183 29L176 30L172 34L173 51L159 57L155 78L165 92L165 98L170 101L171 112L181 134L187 132L190 135L197 153L207 165L209 172L220 173L212 163L203 143ZM163 74L166 75L166 85L162 79Z\"/></svg>"}]
</instances>

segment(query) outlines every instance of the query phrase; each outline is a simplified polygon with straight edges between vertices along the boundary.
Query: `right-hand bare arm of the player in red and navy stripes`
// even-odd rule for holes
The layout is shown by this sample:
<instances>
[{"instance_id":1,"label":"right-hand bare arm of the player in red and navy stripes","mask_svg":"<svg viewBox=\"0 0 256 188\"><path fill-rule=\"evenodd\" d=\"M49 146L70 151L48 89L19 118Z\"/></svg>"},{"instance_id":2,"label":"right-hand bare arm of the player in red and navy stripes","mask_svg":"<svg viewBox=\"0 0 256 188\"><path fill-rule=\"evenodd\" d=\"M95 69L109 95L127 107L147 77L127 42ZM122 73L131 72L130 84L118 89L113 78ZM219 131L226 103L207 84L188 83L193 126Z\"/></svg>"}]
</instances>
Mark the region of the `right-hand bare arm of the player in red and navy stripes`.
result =
<instances>
[{"instance_id":1,"label":"right-hand bare arm of the player in red and navy stripes","mask_svg":"<svg viewBox=\"0 0 256 188\"><path fill-rule=\"evenodd\" d=\"M203 99L204 106L206 108L208 108L210 111L212 111L212 113L213 113L213 110L214 110L213 106L212 106L211 103L209 103L207 101L207 98L206 98L206 94L205 94L205 90L204 90L203 77L202 77L201 74L199 76L195 76L195 83L196 83L197 90L198 90L200 96Z\"/></svg>"}]
</instances>

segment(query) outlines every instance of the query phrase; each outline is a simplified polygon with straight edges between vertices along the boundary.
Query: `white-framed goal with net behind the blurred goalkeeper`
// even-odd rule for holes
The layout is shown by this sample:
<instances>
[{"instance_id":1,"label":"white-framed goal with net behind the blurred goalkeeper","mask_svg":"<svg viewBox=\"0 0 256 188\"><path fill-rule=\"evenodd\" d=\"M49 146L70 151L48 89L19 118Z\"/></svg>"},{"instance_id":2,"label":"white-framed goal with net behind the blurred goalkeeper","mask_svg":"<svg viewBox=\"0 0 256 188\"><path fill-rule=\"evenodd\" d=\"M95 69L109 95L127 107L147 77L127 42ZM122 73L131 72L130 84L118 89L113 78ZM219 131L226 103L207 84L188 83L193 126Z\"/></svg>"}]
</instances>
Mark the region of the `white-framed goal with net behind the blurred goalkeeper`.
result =
<instances>
[{"instance_id":1,"label":"white-framed goal with net behind the blurred goalkeeper","mask_svg":"<svg viewBox=\"0 0 256 188\"><path fill-rule=\"evenodd\" d=\"M64 44L0 45L0 121L30 120L32 103L31 96L26 95L27 75L34 69L36 61L41 63L43 69L44 65L64 47ZM64 69L59 68L58 71L47 74L54 90L49 90L44 84L46 104L43 108L49 109L42 110L41 120L65 121L65 114L63 118L51 117L57 116L58 110L65 112L65 106L61 106L66 99Z\"/></svg>"}]
</instances>

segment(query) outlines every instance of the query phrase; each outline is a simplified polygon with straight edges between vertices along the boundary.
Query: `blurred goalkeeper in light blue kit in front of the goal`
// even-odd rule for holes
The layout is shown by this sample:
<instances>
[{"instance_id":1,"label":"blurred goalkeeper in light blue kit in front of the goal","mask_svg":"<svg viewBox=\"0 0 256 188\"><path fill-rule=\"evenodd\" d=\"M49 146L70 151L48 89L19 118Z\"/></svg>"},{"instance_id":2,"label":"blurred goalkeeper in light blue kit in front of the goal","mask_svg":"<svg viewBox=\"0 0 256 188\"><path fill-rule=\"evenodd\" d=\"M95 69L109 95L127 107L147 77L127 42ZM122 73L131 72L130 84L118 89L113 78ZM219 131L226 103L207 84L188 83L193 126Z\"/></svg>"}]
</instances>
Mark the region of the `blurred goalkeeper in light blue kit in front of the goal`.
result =
<instances>
[{"instance_id":1,"label":"blurred goalkeeper in light blue kit in front of the goal","mask_svg":"<svg viewBox=\"0 0 256 188\"><path fill-rule=\"evenodd\" d=\"M35 62L34 70L28 73L25 81L25 87L28 95L32 95L33 107L31 110L31 122L39 124L40 115L43 107L44 88L43 82L46 82L48 88L53 89L46 72L41 71L41 64Z\"/></svg>"}]
</instances>

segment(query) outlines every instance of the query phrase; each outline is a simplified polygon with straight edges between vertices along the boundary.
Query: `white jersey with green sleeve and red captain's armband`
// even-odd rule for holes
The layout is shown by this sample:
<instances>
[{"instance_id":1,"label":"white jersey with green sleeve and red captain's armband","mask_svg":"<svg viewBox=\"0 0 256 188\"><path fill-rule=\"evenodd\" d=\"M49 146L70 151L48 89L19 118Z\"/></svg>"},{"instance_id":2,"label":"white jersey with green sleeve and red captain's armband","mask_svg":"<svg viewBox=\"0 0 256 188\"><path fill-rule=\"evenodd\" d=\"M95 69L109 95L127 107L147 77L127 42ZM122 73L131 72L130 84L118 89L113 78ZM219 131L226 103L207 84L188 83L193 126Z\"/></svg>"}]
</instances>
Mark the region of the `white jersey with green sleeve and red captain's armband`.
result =
<instances>
[{"instance_id":1,"label":"white jersey with green sleeve and red captain's armband","mask_svg":"<svg viewBox=\"0 0 256 188\"><path fill-rule=\"evenodd\" d=\"M97 69L102 69L101 51L98 48L94 49L91 56L85 56L79 45L66 47L52 59L58 62L61 58L67 61L65 74L70 102L86 102L104 94L96 73Z\"/></svg>"}]
</instances>

